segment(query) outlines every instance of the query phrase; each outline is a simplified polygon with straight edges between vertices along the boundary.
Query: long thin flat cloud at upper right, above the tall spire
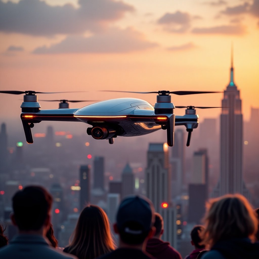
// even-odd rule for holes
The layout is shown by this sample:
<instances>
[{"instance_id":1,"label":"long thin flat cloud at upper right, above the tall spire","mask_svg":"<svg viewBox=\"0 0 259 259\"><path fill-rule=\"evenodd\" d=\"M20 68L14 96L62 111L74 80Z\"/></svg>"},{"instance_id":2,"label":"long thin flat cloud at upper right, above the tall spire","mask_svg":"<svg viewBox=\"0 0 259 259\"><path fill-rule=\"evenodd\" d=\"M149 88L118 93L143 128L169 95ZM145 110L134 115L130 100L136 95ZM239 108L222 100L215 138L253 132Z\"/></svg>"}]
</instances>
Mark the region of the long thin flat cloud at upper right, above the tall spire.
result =
<instances>
[{"instance_id":1,"label":"long thin flat cloud at upper right, above the tall spire","mask_svg":"<svg viewBox=\"0 0 259 259\"><path fill-rule=\"evenodd\" d=\"M246 28L242 25L222 25L215 27L193 28L192 33L241 35L246 33Z\"/></svg>"}]
</instances>

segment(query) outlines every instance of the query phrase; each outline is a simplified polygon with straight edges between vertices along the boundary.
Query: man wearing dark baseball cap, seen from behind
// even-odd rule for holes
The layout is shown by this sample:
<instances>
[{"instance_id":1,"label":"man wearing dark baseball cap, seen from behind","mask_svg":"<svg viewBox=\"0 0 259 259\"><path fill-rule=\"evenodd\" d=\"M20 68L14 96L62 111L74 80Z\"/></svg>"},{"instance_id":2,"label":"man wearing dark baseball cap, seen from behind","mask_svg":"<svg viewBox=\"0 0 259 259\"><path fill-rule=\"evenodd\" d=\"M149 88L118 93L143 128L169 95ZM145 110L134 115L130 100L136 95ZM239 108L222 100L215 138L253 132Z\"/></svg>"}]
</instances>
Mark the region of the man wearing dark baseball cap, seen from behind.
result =
<instances>
[{"instance_id":1,"label":"man wearing dark baseball cap, seen from behind","mask_svg":"<svg viewBox=\"0 0 259 259\"><path fill-rule=\"evenodd\" d=\"M146 253L147 240L153 236L154 206L140 196L128 196L119 205L115 233L119 234L119 248L102 259L150 259Z\"/></svg>"}]
</instances>

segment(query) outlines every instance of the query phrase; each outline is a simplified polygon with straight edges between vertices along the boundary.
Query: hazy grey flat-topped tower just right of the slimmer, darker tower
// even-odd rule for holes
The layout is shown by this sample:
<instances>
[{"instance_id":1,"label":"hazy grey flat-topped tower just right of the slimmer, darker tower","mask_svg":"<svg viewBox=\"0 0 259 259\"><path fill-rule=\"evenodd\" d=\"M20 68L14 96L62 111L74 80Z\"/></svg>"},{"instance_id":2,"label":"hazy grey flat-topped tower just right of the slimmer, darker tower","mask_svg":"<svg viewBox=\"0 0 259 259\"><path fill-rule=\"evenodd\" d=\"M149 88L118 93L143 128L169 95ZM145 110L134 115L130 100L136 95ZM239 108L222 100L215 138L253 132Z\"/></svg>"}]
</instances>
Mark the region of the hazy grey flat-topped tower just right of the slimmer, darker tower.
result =
<instances>
[{"instance_id":1,"label":"hazy grey flat-topped tower just right of the slimmer, darker tower","mask_svg":"<svg viewBox=\"0 0 259 259\"><path fill-rule=\"evenodd\" d=\"M104 190L104 157L96 156L93 161L93 188Z\"/></svg>"}]
</instances>

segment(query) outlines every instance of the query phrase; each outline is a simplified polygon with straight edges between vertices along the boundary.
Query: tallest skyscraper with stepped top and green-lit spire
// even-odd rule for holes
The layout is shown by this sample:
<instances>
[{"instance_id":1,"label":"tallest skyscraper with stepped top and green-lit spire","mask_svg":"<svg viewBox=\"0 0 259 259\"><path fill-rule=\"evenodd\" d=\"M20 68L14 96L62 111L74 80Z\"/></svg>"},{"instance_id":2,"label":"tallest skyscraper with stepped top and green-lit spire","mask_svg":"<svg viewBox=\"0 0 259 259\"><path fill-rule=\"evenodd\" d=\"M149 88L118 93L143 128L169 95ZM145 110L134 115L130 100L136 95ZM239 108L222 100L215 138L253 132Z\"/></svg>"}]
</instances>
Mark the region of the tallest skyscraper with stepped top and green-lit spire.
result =
<instances>
[{"instance_id":1,"label":"tallest skyscraper with stepped top and green-lit spire","mask_svg":"<svg viewBox=\"0 0 259 259\"><path fill-rule=\"evenodd\" d=\"M241 193L250 199L243 173L243 115L240 92L234 83L233 55L230 82L224 90L220 115L220 178L213 196Z\"/></svg>"}]
</instances>

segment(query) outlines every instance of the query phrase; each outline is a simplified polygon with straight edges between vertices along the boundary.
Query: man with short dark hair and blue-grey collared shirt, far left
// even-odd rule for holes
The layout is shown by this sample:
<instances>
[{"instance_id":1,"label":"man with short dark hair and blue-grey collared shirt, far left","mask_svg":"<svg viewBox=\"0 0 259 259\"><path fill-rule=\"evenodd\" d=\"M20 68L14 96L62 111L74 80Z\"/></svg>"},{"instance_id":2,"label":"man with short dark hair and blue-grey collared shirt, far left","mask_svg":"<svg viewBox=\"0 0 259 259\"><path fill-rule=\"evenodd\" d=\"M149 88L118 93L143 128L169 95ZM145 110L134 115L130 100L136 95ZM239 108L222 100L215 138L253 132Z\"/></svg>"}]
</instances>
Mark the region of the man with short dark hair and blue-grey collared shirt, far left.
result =
<instances>
[{"instance_id":1,"label":"man with short dark hair and blue-grey collared shirt, far left","mask_svg":"<svg viewBox=\"0 0 259 259\"><path fill-rule=\"evenodd\" d=\"M45 240L50 224L51 195L41 186L28 186L12 198L11 220L18 227L18 235L0 248L0 258L10 259L68 259L76 258L58 252Z\"/></svg>"}]
</instances>

